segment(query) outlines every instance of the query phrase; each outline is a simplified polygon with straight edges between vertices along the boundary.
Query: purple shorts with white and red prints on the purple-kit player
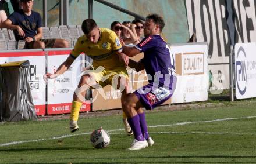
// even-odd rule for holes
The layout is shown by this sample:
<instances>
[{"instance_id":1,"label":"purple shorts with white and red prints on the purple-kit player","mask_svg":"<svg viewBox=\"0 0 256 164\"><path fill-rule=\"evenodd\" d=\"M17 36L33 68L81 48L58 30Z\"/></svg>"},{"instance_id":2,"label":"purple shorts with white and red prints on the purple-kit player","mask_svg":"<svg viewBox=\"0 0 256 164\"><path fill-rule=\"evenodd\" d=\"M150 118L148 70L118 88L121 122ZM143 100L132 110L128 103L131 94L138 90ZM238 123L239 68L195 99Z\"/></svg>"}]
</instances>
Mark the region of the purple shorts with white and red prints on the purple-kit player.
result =
<instances>
[{"instance_id":1,"label":"purple shorts with white and red prints on the purple-kit player","mask_svg":"<svg viewBox=\"0 0 256 164\"><path fill-rule=\"evenodd\" d=\"M146 110L152 110L170 99L173 92L172 90L168 90L163 87L155 88L152 83L149 83L148 85L136 90L134 94L136 94L140 103L146 108Z\"/></svg>"}]
</instances>

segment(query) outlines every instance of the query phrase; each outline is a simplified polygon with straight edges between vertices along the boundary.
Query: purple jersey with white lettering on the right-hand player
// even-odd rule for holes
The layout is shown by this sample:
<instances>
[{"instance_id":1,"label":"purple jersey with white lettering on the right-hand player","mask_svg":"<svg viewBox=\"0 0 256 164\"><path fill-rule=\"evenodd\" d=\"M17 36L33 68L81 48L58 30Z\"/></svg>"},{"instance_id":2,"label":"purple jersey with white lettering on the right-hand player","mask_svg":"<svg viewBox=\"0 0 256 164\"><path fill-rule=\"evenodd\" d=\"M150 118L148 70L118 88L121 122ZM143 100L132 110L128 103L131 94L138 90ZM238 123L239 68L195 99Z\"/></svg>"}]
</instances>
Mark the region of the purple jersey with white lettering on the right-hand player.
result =
<instances>
[{"instance_id":1,"label":"purple jersey with white lettering on the right-hand player","mask_svg":"<svg viewBox=\"0 0 256 164\"><path fill-rule=\"evenodd\" d=\"M164 87L171 90L175 64L172 53L163 38L160 35L151 35L135 47L144 52L141 62L148 74L148 82L158 85L157 88Z\"/></svg>"}]
</instances>

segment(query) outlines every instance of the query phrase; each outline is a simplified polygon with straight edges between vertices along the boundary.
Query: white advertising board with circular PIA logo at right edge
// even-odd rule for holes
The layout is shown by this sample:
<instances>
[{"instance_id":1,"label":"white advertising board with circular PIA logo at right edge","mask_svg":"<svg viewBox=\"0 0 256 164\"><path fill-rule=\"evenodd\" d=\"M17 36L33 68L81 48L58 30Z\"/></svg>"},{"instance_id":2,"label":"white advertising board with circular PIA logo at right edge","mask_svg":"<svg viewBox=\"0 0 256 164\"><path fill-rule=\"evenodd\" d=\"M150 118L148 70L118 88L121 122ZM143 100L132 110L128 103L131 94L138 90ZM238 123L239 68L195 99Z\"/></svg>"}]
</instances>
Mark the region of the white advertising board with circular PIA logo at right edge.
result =
<instances>
[{"instance_id":1,"label":"white advertising board with circular PIA logo at right edge","mask_svg":"<svg viewBox=\"0 0 256 164\"><path fill-rule=\"evenodd\" d=\"M236 98L256 97L256 43L235 46Z\"/></svg>"}]
</instances>

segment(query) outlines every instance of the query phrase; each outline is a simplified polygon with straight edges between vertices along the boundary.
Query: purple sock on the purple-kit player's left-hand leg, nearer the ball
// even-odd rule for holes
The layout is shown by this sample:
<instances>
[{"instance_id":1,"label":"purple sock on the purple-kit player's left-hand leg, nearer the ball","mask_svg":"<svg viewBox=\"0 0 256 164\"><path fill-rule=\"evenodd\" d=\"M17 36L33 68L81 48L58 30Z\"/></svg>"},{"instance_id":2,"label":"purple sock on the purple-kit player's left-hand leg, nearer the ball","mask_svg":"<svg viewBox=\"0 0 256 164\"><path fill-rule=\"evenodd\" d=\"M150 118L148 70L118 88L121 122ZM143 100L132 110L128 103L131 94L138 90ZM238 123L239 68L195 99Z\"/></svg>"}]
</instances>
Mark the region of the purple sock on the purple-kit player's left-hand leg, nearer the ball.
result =
<instances>
[{"instance_id":1,"label":"purple sock on the purple-kit player's left-hand leg, nearer the ball","mask_svg":"<svg viewBox=\"0 0 256 164\"><path fill-rule=\"evenodd\" d=\"M138 141L144 141L143 134L141 133L140 127L140 116L136 115L132 118L127 118L131 129L133 129L134 137Z\"/></svg>"}]
</instances>

